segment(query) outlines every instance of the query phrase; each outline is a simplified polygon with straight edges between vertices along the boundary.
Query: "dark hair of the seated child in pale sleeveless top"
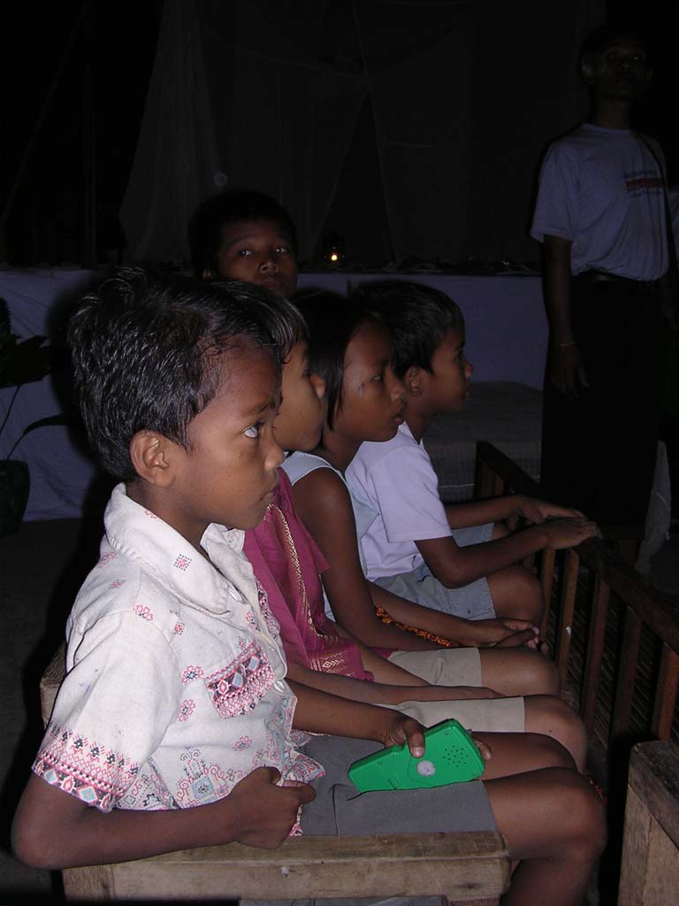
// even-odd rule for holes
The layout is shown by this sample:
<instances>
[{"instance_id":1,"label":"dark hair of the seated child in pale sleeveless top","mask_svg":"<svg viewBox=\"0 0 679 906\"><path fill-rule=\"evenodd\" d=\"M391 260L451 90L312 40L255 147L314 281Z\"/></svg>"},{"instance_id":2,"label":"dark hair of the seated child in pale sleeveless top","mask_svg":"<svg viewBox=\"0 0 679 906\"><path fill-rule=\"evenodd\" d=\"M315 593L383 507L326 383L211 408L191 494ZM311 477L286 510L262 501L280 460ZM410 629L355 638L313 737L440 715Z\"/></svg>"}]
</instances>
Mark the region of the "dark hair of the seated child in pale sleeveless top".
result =
<instances>
[{"instance_id":1,"label":"dark hair of the seated child in pale sleeveless top","mask_svg":"<svg viewBox=\"0 0 679 906\"><path fill-rule=\"evenodd\" d=\"M325 381L328 427L342 404L344 355L362 323L374 320L358 304L330 290L308 290L292 296L309 325L309 368Z\"/></svg>"}]
</instances>

